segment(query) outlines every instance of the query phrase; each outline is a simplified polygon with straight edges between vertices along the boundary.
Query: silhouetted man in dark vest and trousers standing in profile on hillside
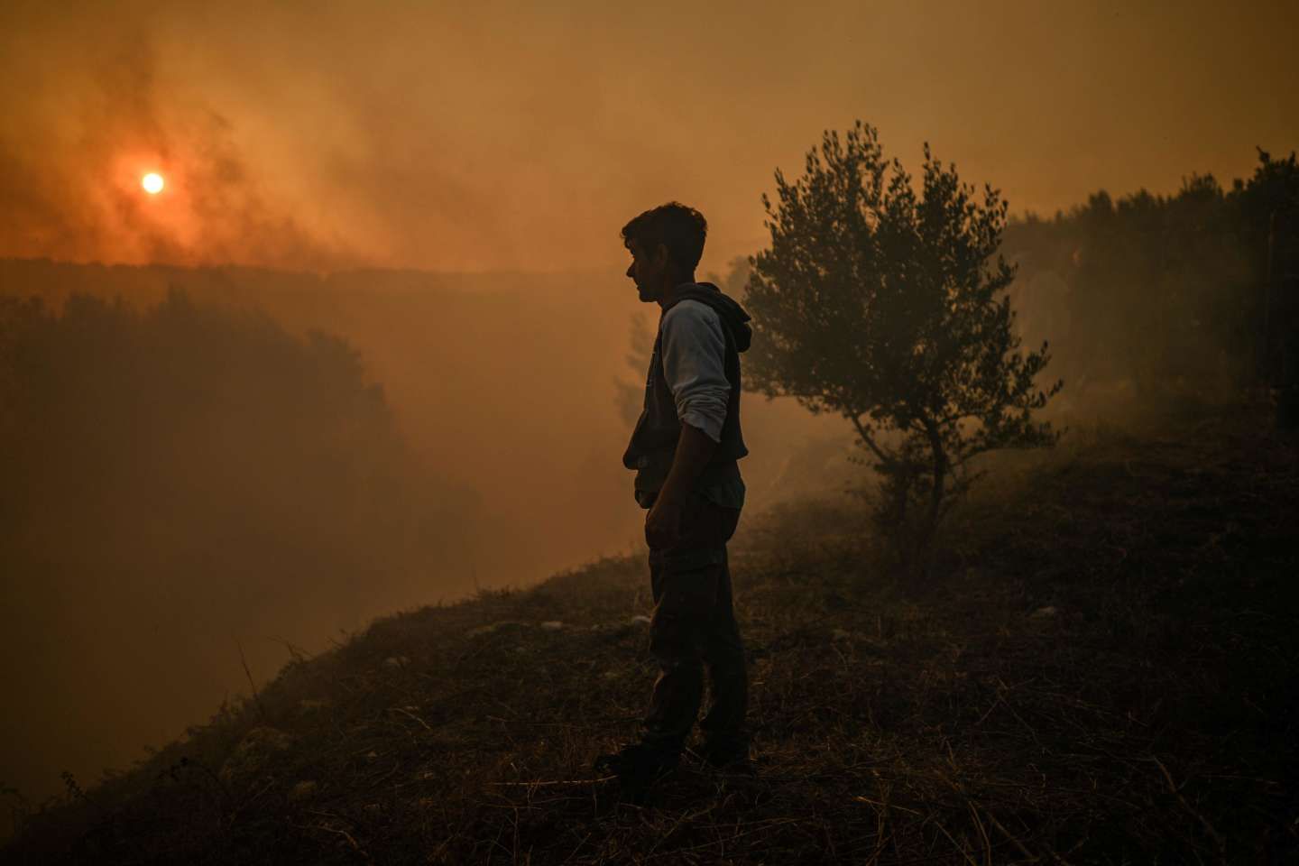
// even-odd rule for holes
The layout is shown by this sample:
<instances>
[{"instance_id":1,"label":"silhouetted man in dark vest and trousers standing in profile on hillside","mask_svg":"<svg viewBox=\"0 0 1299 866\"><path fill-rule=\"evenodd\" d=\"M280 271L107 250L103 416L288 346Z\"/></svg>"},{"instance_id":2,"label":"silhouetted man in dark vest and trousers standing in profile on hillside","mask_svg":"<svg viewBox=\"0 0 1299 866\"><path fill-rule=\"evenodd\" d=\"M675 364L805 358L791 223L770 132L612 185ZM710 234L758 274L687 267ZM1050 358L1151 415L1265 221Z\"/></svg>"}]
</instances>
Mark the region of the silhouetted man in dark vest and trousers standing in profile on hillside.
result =
<instances>
[{"instance_id":1,"label":"silhouetted man in dark vest and trousers standing in profile on hillside","mask_svg":"<svg viewBox=\"0 0 1299 866\"><path fill-rule=\"evenodd\" d=\"M699 713L704 666L711 705L700 722L700 754L717 767L748 760L748 679L726 541L744 505L739 353L752 331L739 304L695 282L707 232L703 214L675 201L622 229L627 277L642 301L662 310L644 410L622 457L637 471L637 502L648 509L650 649L660 673L640 741L596 761L634 798L679 761Z\"/></svg>"}]
</instances>

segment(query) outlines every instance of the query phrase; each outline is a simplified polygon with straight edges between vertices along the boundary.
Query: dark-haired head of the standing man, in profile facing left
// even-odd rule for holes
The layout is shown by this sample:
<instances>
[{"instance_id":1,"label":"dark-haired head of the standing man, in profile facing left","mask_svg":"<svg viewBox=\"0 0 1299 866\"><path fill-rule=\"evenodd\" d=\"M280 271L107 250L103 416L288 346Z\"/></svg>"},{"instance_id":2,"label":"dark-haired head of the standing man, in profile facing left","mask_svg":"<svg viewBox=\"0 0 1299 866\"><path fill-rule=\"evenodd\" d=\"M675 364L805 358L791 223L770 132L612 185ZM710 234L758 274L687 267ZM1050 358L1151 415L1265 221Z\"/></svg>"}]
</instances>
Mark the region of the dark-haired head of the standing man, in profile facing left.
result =
<instances>
[{"instance_id":1,"label":"dark-haired head of the standing man, in profile facing left","mask_svg":"<svg viewBox=\"0 0 1299 866\"><path fill-rule=\"evenodd\" d=\"M659 205L622 227L622 243L631 252L627 277L642 301L659 301L675 286L695 278L704 254L708 221L679 201Z\"/></svg>"}]
</instances>

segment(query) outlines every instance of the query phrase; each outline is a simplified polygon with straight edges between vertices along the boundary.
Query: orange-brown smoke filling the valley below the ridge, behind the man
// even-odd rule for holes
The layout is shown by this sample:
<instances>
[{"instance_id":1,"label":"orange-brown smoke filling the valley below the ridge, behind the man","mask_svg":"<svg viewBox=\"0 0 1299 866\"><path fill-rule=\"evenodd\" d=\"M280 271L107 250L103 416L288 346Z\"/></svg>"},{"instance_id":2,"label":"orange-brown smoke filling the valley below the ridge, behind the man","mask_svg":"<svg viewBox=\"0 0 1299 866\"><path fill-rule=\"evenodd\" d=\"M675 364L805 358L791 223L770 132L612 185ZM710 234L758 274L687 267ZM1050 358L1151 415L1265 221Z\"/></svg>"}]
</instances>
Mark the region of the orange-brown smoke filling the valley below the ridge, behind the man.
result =
<instances>
[{"instance_id":1,"label":"orange-brown smoke filling the valley below the ridge, behind the man","mask_svg":"<svg viewBox=\"0 0 1299 866\"><path fill-rule=\"evenodd\" d=\"M618 280L0 260L4 782L129 763L244 661L637 549ZM796 406L746 436L755 509L851 469Z\"/></svg>"}]
</instances>

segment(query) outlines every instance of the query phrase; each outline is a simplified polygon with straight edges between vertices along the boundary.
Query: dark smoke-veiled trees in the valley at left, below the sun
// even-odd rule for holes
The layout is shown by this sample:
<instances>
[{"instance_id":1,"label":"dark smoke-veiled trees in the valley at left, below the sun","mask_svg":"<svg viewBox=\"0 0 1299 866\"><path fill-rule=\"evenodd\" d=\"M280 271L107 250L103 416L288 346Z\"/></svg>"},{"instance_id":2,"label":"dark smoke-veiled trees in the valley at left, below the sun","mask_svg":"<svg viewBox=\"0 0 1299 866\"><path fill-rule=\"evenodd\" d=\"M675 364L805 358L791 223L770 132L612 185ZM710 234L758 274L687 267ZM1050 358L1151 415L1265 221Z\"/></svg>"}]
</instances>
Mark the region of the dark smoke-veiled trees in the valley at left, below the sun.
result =
<instances>
[{"instance_id":1,"label":"dark smoke-veiled trees in the valley at left, below the sun","mask_svg":"<svg viewBox=\"0 0 1299 866\"><path fill-rule=\"evenodd\" d=\"M19 762L49 739L65 766L135 754L205 718L240 652L265 671L464 591L477 554L474 495L410 453L355 351L181 292L0 296L0 478Z\"/></svg>"}]
</instances>

